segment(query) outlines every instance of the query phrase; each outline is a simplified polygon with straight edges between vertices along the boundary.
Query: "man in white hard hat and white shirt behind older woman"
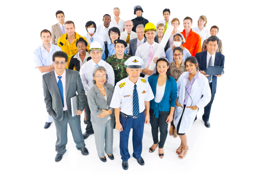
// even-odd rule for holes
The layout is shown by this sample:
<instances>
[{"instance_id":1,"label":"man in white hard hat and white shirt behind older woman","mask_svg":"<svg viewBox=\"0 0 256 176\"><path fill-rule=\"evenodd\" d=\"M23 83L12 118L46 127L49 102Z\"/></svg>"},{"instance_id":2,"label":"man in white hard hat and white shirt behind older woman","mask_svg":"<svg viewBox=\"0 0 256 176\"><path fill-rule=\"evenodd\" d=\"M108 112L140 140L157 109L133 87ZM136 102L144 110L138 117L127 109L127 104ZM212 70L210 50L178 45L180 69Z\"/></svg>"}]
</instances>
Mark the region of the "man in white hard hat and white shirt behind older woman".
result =
<instances>
[{"instance_id":1,"label":"man in white hard hat and white shirt behind older woman","mask_svg":"<svg viewBox=\"0 0 256 176\"><path fill-rule=\"evenodd\" d=\"M97 68L98 66L103 66L104 68L106 68L107 74L108 74L107 83L112 84L113 86L115 84L115 74L114 74L113 68L107 62L100 59L102 57L102 46L100 42L93 41L91 43L90 54L92 59L87 61L80 68L80 72L79 72L81 75L82 83L84 85L85 95L87 95L88 90L91 89L94 85L92 82L94 79L92 76L92 72L94 68ZM88 138L88 136L94 133L92 129L91 111L88 105L87 96L85 96L85 111L86 111L86 118L87 118L87 126L86 126L86 132L84 132L83 134L84 139Z\"/></svg>"}]
</instances>

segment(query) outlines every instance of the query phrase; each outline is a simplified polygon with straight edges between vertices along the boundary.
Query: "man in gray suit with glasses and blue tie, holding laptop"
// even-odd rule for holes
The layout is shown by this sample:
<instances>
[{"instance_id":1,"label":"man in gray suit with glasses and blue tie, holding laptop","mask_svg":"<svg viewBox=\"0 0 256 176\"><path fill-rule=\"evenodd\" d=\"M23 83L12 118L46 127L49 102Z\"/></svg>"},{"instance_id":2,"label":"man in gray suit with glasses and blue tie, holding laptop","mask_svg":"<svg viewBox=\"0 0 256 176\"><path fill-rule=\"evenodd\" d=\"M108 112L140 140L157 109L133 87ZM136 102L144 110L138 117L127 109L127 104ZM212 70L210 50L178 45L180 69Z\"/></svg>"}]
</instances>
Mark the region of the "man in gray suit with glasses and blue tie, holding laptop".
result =
<instances>
[{"instance_id":1,"label":"man in gray suit with glasses and blue tie, holding laptop","mask_svg":"<svg viewBox=\"0 0 256 176\"><path fill-rule=\"evenodd\" d=\"M43 75L44 102L49 115L53 117L57 141L55 149L57 155L55 161L60 161L67 151L68 124L73 135L76 148L81 150L83 155L89 152L85 148L84 138L81 130L80 115L84 110L85 91L78 71L65 69L68 55L65 52L57 51L52 55L54 70ZM78 93L79 107L76 116L72 116L70 98Z\"/></svg>"}]
</instances>

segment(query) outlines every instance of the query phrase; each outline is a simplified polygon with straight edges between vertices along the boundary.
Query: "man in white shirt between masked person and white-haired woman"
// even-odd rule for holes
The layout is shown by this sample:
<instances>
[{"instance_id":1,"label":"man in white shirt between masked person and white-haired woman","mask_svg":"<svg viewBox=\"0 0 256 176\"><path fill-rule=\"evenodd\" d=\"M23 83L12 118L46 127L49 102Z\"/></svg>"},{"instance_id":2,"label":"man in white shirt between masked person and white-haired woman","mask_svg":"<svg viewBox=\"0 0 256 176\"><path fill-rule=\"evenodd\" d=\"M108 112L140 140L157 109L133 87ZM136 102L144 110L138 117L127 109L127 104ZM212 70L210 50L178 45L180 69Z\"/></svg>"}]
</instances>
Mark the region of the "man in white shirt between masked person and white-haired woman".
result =
<instances>
[{"instance_id":1,"label":"man in white shirt between masked person and white-haired woman","mask_svg":"<svg viewBox=\"0 0 256 176\"><path fill-rule=\"evenodd\" d=\"M96 33L101 36L103 42L109 40L108 36L108 30L112 27L114 27L112 24L110 24L111 17L109 14L105 14L103 16L103 24L101 24L99 27L96 29Z\"/></svg>"}]
</instances>

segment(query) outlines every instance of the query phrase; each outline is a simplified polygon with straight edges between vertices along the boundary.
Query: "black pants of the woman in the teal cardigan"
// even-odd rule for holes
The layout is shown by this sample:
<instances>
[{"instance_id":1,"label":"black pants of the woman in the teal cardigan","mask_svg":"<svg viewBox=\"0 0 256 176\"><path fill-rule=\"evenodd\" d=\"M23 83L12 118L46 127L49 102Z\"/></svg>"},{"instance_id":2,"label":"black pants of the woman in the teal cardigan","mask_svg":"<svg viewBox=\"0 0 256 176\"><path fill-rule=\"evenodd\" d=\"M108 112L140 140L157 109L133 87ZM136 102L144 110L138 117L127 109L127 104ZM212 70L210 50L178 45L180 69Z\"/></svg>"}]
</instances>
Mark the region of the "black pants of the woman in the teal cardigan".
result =
<instances>
[{"instance_id":1,"label":"black pants of the woman in the teal cardigan","mask_svg":"<svg viewBox=\"0 0 256 176\"><path fill-rule=\"evenodd\" d=\"M151 132L154 144L158 143L158 128L160 131L160 141L159 148L164 147L164 143L168 133L168 124L166 122L167 116L170 114L170 111L159 111L158 118L154 115L154 109L149 109Z\"/></svg>"}]
</instances>

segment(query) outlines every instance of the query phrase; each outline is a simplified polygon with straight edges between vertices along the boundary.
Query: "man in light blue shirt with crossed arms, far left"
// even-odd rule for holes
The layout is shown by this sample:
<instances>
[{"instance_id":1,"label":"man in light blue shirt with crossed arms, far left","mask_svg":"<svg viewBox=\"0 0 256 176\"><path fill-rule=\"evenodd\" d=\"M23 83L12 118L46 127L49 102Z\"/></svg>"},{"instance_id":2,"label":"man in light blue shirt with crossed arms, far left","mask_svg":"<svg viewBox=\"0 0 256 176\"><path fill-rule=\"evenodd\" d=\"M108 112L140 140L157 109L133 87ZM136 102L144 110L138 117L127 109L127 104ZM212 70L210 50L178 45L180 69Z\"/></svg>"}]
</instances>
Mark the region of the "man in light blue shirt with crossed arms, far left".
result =
<instances>
[{"instance_id":1,"label":"man in light blue shirt with crossed arms, far left","mask_svg":"<svg viewBox=\"0 0 256 176\"><path fill-rule=\"evenodd\" d=\"M42 75L54 69L52 65L52 55L56 51L61 51L61 48L57 45L50 43L52 34L49 30L47 29L42 30L40 33L40 36L43 43L39 47L37 47L36 50L34 51L34 62L35 62L35 68L38 68L38 70L41 72L41 78L42 78ZM46 112L46 122L44 124L44 128L48 128L51 125L52 121L53 121L52 116L50 116Z\"/></svg>"}]
</instances>

